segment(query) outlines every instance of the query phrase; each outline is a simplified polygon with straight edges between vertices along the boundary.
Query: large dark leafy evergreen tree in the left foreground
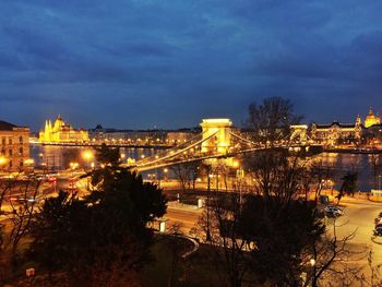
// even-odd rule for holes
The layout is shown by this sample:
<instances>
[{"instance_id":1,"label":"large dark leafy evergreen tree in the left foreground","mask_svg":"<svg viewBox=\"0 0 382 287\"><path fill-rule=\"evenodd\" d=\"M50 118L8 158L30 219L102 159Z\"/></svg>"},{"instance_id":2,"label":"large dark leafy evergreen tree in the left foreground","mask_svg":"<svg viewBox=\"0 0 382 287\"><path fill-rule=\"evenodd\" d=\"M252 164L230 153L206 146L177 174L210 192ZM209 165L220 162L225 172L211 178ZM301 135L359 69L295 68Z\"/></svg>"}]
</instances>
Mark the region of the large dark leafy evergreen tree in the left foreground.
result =
<instances>
[{"instance_id":1,"label":"large dark leafy evergreen tree in the left foreground","mask_svg":"<svg viewBox=\"0 0 382 287\"><path fill-rule=\"evenodd\" d=\"M64 272L70 286L132 284L151 260L146 224L165 214L166 200L157 186L120 168L117 152L99 151L104 168L92 172L87 198L60 192L34 220L31 255L50 275Z\"/></svg>"}]
</instances>

